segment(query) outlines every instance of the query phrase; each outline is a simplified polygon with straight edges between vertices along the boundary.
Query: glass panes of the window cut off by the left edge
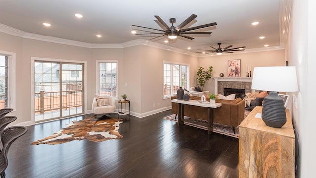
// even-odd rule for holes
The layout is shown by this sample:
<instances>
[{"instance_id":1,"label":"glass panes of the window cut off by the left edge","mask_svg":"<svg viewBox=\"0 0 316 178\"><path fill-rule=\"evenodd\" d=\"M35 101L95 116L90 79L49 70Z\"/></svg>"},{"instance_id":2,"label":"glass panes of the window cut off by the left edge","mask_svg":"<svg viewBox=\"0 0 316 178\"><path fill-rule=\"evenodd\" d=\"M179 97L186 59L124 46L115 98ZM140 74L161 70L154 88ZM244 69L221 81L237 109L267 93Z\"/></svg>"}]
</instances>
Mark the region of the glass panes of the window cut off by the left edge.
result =
<instances>
[{"instance_id":1,"label":"glass panes of the window cut off by the left edge","mask_svg":"<svg viewBox=\"0 0 316 178\"><path fill-rule=\"evenodd\" d=\"M0 109L8 107L8 56L0 56Z\"/></svg>"}]
</instances>

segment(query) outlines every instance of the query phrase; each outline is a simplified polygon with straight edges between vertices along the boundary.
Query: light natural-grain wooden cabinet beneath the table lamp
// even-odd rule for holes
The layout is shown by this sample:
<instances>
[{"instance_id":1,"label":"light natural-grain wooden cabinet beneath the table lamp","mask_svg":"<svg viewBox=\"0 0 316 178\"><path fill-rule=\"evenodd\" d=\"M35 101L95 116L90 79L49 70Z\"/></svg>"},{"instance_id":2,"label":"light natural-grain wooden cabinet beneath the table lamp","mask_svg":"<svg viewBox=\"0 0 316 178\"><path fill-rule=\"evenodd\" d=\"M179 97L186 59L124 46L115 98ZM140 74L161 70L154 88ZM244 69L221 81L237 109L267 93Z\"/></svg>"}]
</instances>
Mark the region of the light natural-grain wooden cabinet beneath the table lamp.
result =
<instances>
[{"instance_id":1,"label":"light natural-grain wooden cabinet beneath the table lamp","mask_svg":"<svg viewBox=\"0 0 316 178\"><path fill-rule=\"evenodd\" d=\"M282 128L256 118L255 107L239 126L239 178L295 178L295 135L292 118Z\"/></svg>"}]
</instances>

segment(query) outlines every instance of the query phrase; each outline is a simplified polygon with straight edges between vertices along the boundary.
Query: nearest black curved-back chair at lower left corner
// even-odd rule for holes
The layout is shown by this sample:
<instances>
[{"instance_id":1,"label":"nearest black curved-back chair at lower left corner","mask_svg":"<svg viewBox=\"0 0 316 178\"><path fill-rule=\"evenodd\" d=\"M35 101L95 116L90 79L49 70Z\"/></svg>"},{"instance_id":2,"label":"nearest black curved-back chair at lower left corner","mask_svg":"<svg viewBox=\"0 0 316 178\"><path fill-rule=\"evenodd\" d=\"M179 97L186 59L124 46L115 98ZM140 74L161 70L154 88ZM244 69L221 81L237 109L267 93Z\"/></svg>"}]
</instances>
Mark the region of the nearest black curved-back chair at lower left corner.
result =
<instances>
[{"instance_id":1,"label":"nearest black curved-back chair at lower left corner","mask_svg":"<svg viewBox=\"0 0 316 178\"><path fill-rule=\"evenodd\" d=\"M8 127L1 134L3 149L0 153L0 176L5 178L5 169L8 167L7 154L12 143L27 132L27 128L23 126Z\"/></svg>"}]
</instances>

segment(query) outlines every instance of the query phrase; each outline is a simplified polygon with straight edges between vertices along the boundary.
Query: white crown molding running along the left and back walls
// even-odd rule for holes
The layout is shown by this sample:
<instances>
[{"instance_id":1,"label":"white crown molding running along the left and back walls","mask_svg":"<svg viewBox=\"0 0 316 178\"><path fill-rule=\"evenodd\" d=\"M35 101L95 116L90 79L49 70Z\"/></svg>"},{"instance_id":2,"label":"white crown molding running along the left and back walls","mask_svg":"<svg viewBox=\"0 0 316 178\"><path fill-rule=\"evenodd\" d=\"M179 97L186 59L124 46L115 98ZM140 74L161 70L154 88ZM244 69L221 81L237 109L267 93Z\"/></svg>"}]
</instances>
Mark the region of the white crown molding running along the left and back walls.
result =
<instances>
[{"instance_id":1,"label":"white crown molding running along the left and back walls","mask_svg":"<svg viewBox=\"0 0 316 178\"><path fill-rule=\"evenodd\" d=\"M144 46L150 46L162 50L172 51L180 54L185 54L189 56L194 57L210 57L210 56L216 56L216 54L197 54L194 52L186 51L183 49L175 48L169 45L160 44L157 42L145 40L145 39L136 39L127 41L121 44L118 43L112 43L112 44L94 44L94 43L85 43L85 42L79 42L69 39L62 39L52 36L44 36L44 35L38 35L33 33L24 32L18 29L15 29L13 27L6 26L4 24L0 24L0 32L10 34L13 36L19 36L26 39L34 39L34 40L40 40L40 41L46 41L46 42L52 42L52 43L59 43L59 44L66 44L71 46L79 46L79 47L85 47L85 48L126 48L126 47L132 47L137 45L144 45ZM261 52L261 51L273 51L273 50L282 50L284 49L283 46L273 46L273 47L264 47L264 48L255 48L255 49L246 49L245 51L236 52L234 54L240 54L240 53L250 53L250 52ZM223 55L233 55L233 54L223 54Z\"/></svg>"}]
</instances>

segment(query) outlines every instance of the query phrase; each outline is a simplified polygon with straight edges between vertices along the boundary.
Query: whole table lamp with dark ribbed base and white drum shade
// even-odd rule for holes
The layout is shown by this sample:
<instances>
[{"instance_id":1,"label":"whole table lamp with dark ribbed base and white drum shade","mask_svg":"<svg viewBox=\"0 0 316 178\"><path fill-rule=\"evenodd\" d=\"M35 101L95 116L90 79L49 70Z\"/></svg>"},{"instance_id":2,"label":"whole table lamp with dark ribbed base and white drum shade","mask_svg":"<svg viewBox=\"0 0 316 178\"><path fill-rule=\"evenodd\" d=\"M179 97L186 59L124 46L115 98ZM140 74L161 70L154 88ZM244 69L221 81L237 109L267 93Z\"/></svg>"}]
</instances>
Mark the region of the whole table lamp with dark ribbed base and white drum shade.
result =
<instances>
[{"instance_id":1,"label":"whole table lamp with dark ribbed base and white drum shade","mask_svg":"<svg viewBox=\"0 0 316 178\"><path fill-rule=\"evenodd\" d=\"M286 123L286 113L284 100L277 92L298 91L295 67L255 67L251 88L270 91L264 99L261 117L267 126L281 128Z\"/></svg>"}]
</instances>

